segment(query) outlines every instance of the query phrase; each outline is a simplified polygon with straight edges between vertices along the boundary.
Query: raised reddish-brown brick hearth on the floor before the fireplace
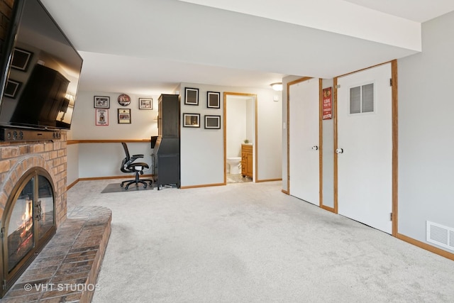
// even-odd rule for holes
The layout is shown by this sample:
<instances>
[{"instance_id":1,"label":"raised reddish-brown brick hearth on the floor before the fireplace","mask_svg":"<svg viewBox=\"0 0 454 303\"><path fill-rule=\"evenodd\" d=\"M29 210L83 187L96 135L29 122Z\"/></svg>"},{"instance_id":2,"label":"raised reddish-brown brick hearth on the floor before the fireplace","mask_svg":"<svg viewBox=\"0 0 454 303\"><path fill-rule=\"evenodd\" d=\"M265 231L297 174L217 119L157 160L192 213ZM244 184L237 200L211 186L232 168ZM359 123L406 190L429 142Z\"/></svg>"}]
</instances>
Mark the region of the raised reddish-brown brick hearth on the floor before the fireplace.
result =
<instances>
[{"instance_id":1,"label":"raised reddish-brown brick hearth on the floor before the fireplace","mask_svg":"<svg viewBox=\"0 0 454 303\"><path fill-rule=\"evenodd\" d=\"M91 302L110 233L110 209L74 209L1 302Z\"/></svg>"}]
</instances>

